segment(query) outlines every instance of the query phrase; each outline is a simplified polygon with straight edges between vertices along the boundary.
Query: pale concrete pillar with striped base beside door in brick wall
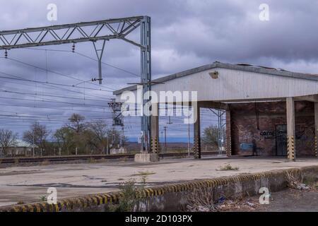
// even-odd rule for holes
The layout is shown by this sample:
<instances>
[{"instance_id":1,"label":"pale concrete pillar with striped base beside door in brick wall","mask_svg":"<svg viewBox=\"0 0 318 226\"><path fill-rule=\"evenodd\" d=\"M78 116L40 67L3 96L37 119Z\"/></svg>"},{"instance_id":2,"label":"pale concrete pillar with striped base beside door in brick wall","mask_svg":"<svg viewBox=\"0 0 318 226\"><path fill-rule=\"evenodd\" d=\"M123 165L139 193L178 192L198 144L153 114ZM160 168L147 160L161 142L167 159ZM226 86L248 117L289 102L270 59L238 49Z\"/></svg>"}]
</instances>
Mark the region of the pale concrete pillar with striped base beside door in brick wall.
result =
<instances>
[{"instance_id":1,"label":"pale concrete pillar with striped base beside door in brick wall","mask_svg":"<svg viewBox=\"0 0 318 226\"><path fill-rule=\"evenodd\" d=\"M287 151L288 160L296 160L295 150L295 102L293 97L286 98L287 113Z\"/></svg>"}]
</instances>

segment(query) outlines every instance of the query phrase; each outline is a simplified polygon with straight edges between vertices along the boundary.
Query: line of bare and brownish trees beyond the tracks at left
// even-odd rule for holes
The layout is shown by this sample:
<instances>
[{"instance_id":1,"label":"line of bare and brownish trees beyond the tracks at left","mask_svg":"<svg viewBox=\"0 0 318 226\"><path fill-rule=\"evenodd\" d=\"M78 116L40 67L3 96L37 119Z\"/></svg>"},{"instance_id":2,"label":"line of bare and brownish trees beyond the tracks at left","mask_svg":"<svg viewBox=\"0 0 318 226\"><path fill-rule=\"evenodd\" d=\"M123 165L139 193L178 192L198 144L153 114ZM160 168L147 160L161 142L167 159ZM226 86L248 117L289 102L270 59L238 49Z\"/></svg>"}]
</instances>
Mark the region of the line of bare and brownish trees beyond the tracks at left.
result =
<instances>
[{"instance_id":1,"label":"line of bare and brownish trees beyond the tracks at left","mask_svg":"<svg viewBox=\"0 0 318 226\"><path fill-rule=\"evenodd\" d=\"M17 138L18 133L0 129L0 155L6 156L8 149L16 145ZM68 123L56 131L34 122L23 132L23 141L37 146L36 155L59 155L59 152L61 155L94 155L107 154L110 148L126 145L127 138L109 129L101 119L87 121L81 114L72 114Z\"/></svg>"}]
</instances>

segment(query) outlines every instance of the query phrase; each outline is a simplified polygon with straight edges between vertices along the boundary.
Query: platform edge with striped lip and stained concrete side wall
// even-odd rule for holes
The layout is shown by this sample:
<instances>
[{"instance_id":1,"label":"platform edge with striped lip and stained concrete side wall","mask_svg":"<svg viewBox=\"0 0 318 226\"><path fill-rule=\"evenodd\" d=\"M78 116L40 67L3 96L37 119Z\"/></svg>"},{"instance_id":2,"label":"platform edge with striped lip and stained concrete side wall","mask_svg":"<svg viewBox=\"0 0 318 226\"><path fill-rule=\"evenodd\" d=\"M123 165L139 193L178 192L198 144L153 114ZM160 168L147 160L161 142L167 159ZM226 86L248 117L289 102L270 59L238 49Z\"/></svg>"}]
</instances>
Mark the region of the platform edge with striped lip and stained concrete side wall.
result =
<instances>
[{"instance_id":1,"label":"platform edge with striped lip and stained concrete side wall","mask_svg":"<svg viewBox=\"0 0 318 226\"><path fill-rule=\"evenodd\" d=\"M242 197L259 194L263 186L269 191L280 191L287 187L287 175L295 178L314 174L317 177L318 166L308 166L292 169L279 169L256 174L240 174L215 179L199 179L189 182L165 184L146 188L143 198L136 206L139 211L172 211L182 210L187 198L195 193L208 189L213 198L220 196ZM4 206L0 212L81 212L81 211L107 211L109 203L117 203L121 194L114 191L105 194L92 194L73 198L63 198L56 205L46 202L28 203L22 205Z\"/></svg>"}]
</instances>

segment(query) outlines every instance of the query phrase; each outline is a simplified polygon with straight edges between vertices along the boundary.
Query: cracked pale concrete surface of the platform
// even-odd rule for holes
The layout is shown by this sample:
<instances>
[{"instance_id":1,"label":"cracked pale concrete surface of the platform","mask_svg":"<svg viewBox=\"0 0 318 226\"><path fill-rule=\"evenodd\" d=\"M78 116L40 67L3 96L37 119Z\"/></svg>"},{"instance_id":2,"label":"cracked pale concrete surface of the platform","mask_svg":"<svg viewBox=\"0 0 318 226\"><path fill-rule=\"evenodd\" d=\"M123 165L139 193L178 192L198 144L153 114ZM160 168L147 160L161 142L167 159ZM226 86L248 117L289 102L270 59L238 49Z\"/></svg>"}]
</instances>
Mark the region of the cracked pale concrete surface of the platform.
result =
<instances>
[{"instance_id":1,"label":"cracked pale concrete surface of the platform","mask_svg":"<svg viewBox=\"0 0 318 226\"><path fill-rule=\"evenodd\" d=\"M239 167L237 171L217 170L225 164ZM117 190L118 184L129 179L141 180L147 175L147 185L184 182L235 174L264 172L318 165L316 158L286 162L278 157L180 159L141 164L136 162L100 162L77 165L47 165L8 167L0 169L0 206L40 201L47 188L57 188L58 198L97 194Z\"/></svg>"}]
</instances>

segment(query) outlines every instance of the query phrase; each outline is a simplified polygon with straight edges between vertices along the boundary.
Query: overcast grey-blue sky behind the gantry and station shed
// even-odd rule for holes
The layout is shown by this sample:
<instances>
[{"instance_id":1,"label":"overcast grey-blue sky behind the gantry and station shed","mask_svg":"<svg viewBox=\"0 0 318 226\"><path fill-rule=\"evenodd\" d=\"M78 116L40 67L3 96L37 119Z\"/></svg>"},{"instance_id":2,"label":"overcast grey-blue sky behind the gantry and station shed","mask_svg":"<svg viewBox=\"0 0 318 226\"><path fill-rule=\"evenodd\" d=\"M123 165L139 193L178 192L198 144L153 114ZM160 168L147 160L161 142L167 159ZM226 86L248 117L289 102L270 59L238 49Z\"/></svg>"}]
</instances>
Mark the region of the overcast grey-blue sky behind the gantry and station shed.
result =
<instances>
[{"instance_id":1,"label":"overcast grey-blue sky behind the gantry and station shed","mask_svg":"<svg viewBox=\"0 0 318 226\"><path fill-rule=\"evenodd\" d=\"M0 30L151 16L153 78L213 61L318 73L318 1L0 1ZM57 20L47 20L48 4L56 4ZM269 6L269 20L260 20L261 4ZM133 32L131 38L138 35ZM122 40L107 42L104 81L98 86L82 83L98 74L93 44L76 44L82 55L72 53L71 45L12 49L8 59L0 51L1 128L21 136L37 120L54 132L73 112L112 124L107 102L113 90L139 82L139 48ZM81 88L72 87L78 83ZM216 123L209 109L202 114L203 127ZM168 126L170 141L186 141L187 125L182 119L170 120L172 124L167 117L160 120L160 131ZM137 117L125 119L124 131L131 140L139 134L139 124Z\"/></svg>"}]
</instances>

